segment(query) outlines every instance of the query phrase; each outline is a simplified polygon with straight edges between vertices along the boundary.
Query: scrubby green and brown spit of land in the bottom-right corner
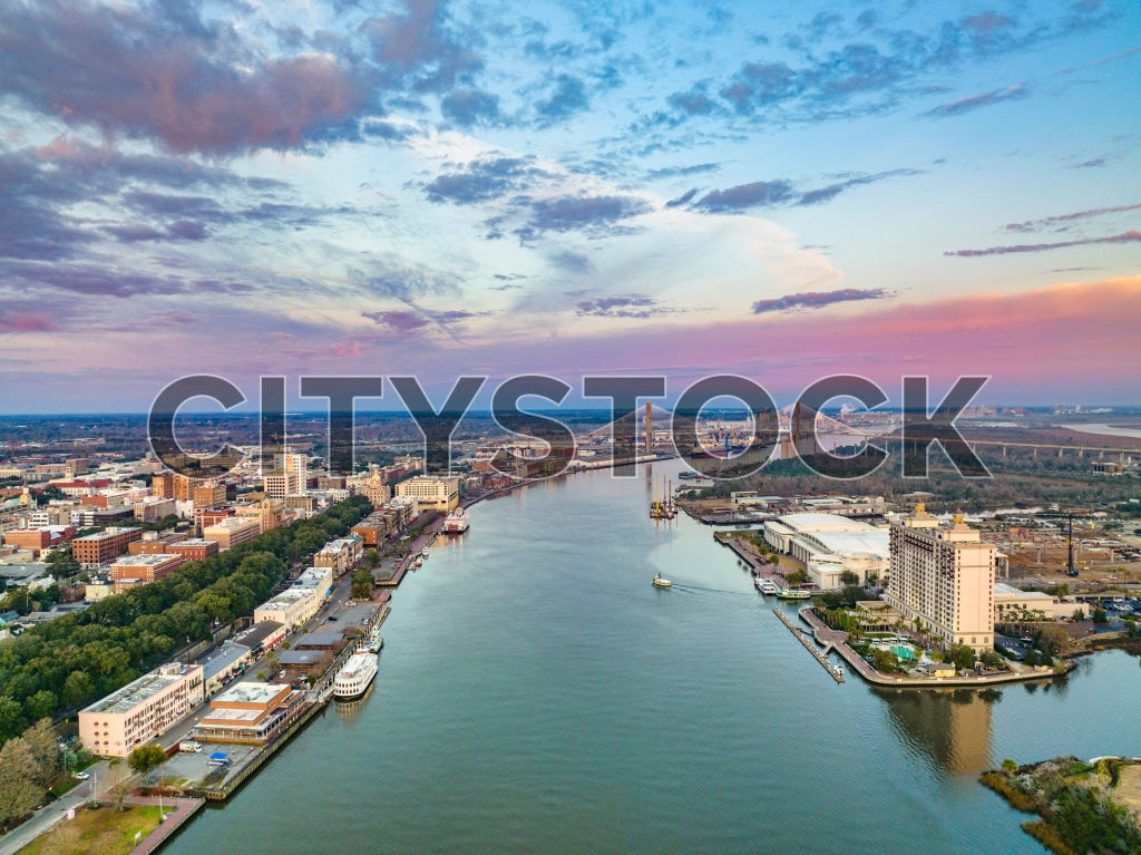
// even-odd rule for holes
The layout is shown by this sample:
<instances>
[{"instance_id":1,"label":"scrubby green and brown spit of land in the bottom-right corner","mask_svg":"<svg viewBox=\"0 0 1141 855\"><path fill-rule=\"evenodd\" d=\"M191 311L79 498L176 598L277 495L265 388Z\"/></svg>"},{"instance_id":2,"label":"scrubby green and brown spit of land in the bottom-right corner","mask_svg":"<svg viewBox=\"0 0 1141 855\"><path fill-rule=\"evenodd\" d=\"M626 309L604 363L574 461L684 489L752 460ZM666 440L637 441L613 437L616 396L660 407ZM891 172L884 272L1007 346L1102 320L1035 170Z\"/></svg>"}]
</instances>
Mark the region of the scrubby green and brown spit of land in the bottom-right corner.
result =
<instances>
[{"instance_id":1,"label":"scrubby green and brown spit of land in the bottom-right corner","mask_svg":"<svg viewBox=\"0 0 1141 855\"><path fill-rule=\"evenodd\" d=\"M1058 855L1141 852L1141 759L1003 760L979 781L1011 807L1038 815L1022 830Z\"/></svg>"}]
</instances>

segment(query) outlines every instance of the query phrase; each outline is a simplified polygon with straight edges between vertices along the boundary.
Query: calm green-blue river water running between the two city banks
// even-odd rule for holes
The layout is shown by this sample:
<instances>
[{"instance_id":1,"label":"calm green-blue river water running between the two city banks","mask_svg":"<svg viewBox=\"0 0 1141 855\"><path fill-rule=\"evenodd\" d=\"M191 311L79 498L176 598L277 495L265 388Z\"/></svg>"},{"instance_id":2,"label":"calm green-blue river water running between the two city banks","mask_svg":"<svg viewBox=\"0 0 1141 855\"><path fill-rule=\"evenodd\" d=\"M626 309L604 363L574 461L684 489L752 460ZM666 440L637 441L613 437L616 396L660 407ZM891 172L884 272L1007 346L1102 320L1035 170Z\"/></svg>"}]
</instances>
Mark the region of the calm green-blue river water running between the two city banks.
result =
<instances>
[{"instance_id":1,"label":"calm green-blue river water running between the two city banks","mask_svg":"<svg viewBox=\"0 0 1141 855\"><path fill-rule=\"evenodd\" d=\"M476 506L394 596L358 711L167 852L1041 853L980 769L1141 755L1138 659L984 694L836 685L649 492L593 473Z\"/></svg>"}]
</instances>

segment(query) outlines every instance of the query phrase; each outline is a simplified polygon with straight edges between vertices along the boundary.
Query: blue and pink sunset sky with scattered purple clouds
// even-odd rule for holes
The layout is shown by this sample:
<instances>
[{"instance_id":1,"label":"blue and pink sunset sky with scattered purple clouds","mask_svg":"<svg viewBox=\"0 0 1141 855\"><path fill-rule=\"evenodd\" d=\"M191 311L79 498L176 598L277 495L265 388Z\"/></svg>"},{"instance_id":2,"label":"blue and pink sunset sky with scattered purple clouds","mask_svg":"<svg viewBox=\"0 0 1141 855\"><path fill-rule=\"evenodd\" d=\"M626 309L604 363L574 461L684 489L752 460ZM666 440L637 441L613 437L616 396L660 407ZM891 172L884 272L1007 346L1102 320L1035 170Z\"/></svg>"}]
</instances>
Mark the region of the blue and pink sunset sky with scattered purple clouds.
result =
<instances>
[{"instance_id":1,"label":"blue and pink sunset sky with scattered purple clouds","mask_svg":"<svg viewBox=\"0 0 1141 855\"><path fill-rule=\"evenodd\" d=\"M0 412L199 373L1136 405L1139 135L1133 0L7 0Z\"/></svg>"}]
</instances>

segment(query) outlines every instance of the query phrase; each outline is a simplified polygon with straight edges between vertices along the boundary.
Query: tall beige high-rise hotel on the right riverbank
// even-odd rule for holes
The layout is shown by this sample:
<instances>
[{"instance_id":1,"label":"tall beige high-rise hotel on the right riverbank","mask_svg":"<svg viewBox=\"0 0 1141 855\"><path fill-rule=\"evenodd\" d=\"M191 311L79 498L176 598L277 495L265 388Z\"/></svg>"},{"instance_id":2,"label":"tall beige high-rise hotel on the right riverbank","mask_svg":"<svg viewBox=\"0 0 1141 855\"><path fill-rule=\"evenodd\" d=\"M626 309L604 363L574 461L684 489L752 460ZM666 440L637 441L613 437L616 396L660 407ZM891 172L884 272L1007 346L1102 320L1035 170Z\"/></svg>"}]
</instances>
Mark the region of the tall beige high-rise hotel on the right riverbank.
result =
<instances>
[{"instance_id":1,"label":"tall beige high-rise hotel on the right riverbank","mask_svg":"<svg viewBox=\"0 0 1141 855\"><path fill-rule=\"evenodd\" d=\"M923 506L891 526L888 603L905 620L922 621L944 644L976 652L994 647L996 550L955 517L949 529Z\"/></svg>"}]
</instances>

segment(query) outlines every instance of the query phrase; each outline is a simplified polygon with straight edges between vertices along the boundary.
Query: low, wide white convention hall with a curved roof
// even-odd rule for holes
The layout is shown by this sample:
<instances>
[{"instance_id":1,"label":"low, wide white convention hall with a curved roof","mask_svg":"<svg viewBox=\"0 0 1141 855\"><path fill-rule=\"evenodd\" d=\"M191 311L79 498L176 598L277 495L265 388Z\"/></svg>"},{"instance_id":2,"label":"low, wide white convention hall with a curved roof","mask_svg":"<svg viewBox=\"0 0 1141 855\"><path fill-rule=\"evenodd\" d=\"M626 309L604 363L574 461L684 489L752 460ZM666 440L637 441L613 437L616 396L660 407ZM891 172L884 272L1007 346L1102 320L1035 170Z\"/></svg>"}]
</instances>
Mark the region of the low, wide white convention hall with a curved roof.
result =
<instances>
[{"instance_id":1,"label":"low, wide white convention hall with a curved roof","mask_svg":"<svg viewBox=\"0 0 1141 855\"><path fill-rule=\"evenodd\" d=\"M844 573L865 584L890 568L888 531L836 514L786 514L764 524L764 540L803 562L820 590L842 588Z\"/></svg>"}]
</instances>

